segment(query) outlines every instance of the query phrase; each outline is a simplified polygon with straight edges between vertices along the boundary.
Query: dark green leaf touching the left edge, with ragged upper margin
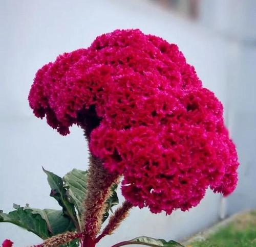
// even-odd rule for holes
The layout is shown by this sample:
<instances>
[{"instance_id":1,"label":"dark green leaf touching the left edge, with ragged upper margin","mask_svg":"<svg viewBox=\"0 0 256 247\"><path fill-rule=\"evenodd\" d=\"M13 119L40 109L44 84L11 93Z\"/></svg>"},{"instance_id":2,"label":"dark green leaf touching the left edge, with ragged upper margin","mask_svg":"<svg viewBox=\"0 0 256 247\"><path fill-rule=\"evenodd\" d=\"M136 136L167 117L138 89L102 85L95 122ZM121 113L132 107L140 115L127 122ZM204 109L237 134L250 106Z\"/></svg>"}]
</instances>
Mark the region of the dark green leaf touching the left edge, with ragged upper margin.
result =
<instances>
[{"instance_id":1,"label":"dark green leaf touching the left edge, with ragged upper margin","mask_svg":"<svg viewBox=\"0 0 256 247\"><path fill-rule=\"evenodd\" d=\"M46 220L39 213L33 213L32 209L19 207L18 205L14 205L14 207L16 210L8 214L3 213L3 211L0 212L0 222L8 222L25 228L42 239L51 236Z\"/></svg>"}]
</instances>

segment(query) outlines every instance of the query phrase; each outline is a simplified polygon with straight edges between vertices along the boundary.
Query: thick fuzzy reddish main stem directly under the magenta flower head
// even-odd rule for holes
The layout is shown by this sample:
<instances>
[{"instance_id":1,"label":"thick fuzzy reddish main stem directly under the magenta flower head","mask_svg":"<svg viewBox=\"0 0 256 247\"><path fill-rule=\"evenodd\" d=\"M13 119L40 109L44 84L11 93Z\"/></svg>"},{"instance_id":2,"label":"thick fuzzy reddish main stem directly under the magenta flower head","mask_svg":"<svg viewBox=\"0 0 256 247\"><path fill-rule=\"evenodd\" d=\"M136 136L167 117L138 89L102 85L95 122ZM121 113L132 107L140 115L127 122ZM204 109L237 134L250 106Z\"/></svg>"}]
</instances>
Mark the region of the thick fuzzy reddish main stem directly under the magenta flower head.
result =
<instances>
[{"instance_id":1,"label":"thick fuzzy reddish main stem directly under the magenta flower head","mask_svg":"<svg viewBox=\"0 0 256 247\"><path fill-rule=\"evenodd\" d=\"M84 130L84 136L90 143L90 136L100 122L95 108L90 108L81 117L80 126ZM86 117L84 117L86 116ZM85 121L84 119L87 119ZM84 199L83 211L83 241L82 247L94 247L96 244L96 235L98 234L102 217L105 212L106 200L111 195L111 186L118 183L118 175L111 174L106 170L102 161L92 154L90 155L90 164L88 170L87 194Z\"/></svg>"}]
</instances>

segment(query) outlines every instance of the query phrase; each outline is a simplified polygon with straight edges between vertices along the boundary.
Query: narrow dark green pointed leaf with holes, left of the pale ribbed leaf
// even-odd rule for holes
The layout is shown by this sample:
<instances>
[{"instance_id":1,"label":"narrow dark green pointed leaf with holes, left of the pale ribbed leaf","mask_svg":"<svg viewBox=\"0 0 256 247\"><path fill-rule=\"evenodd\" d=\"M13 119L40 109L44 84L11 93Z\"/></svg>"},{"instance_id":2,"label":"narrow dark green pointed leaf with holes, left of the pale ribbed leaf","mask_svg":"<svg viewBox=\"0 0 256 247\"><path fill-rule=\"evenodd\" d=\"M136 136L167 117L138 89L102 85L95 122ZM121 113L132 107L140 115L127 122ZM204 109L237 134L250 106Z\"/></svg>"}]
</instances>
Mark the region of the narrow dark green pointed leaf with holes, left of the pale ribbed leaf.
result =
<instances>
[{"instance_id":1,"label":"narrow dark green pointed leaf with holes, left of the pale ribbed leaf","mask_svg":"<svg viewBox=\"0 0 256 247\"><path fill-rule=\"evenodd\" d=\"M80 230L78 220L76 217L75 207L72 203L68 201L67 198L67 189L63 187L62 179L55 175L53 172L45 170L44 167L42 168L47 175L48 183L51 187L50 196L57 200L59 205L62 207L63 213L69 216L74 225L76 226L77 230Z\"/></svg>"}]
</instances>

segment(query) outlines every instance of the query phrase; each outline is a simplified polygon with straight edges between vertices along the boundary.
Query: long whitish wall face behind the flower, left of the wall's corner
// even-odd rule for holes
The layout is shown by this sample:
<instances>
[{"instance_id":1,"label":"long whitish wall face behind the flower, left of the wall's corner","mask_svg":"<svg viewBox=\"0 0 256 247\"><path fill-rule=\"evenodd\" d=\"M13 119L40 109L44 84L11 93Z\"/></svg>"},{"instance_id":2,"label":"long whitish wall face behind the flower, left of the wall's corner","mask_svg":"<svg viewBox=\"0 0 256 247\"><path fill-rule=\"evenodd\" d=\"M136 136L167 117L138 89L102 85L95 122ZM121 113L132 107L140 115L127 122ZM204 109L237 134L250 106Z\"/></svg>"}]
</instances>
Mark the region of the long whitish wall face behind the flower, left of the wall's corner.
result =
<instances>
[{"instance_id":1,"label":"long whitish wall face behind the flower, left of the wall's corner","mask_svg":"<svg viewBox=\"0 0 256 247\"><path fill-rule=\"evenodd\" d=\"M149 3L149 4L148 4ZM177 43L196 67L205 87L227 102L228 42L206 28L179 19L148 1L1 1L1 143L0 208L12 203L37 208L58 208L50 198L43 165L63 176L73 167L87 168L88 153L82 131L72 128L62 137L33 116L27 96L35 72L58 54L87 47L94 38L114 29L140 28L145 33ZM220 195L208 192L189 212L171 216L133 209L117 232L99 247L139 235L179 239L209 226L219 217ZM15 246L40 242L11 224L0 224L0 242Z\"/></svg>"}]
</instances>

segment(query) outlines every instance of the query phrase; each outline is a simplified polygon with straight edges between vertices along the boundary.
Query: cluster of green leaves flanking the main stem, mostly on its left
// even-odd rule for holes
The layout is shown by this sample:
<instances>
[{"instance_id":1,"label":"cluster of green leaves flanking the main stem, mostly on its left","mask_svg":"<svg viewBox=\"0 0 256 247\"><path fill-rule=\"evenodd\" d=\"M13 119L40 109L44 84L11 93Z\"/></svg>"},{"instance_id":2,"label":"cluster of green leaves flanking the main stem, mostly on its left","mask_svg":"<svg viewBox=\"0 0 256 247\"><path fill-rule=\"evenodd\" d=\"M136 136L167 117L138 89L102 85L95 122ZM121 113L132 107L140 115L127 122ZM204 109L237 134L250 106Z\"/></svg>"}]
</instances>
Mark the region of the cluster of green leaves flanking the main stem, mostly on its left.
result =
<instances>
[{"instance_id":1,"label":"cluster of green leaves flanking the main stem, mostly on its left","mask_svg":"<svg viewBox=\"0 0 256 247\"><path fill-rule=\"evenodd\" d=\"M43 170L51 187L50 196L58 202L62 209L34 209L28 205L20 207L14 204L15 210L8 214L0 210L0 222L15 224L42 239L67 231L80 231L82 203L87 192L88 172L73 169L60 178L51 171L44 168ZM112 186L113 193L106 202L107 207L102 221L108 218L109 211L112 211L112 207L118 204L116 188L117 185ZM75 239L61 247L77 246L79 246L79 241Z\"/></svg>"}]
</instances>

